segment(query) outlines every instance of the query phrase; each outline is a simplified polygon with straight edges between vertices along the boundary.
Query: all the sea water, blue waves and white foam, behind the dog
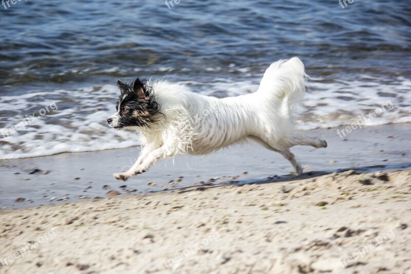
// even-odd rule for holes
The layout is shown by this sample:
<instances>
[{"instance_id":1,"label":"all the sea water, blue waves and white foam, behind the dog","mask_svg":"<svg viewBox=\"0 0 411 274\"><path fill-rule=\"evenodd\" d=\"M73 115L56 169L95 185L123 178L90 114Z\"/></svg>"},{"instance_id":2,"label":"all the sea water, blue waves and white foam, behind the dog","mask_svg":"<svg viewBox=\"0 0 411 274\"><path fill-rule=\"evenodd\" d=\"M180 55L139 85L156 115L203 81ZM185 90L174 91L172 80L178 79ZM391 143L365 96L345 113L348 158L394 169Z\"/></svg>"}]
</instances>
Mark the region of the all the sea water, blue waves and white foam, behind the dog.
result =
<instances>
[{"instance_id":1,"label":"all the sea water, blue waves and white foam, behind the dog","mask_svg":"<svg viewBox=\"0 0 411 274\"><path fill-rule=\"evenodd\" d=\"M0 159L138 144L105 122L116 77L225 97L255 91L271 62L293 56L321 77L310 81L301 129L347 125L384 104L393 108L364 123L411 122L408 1L275 2L0 5Z\"/></svg>"}]
</instances>

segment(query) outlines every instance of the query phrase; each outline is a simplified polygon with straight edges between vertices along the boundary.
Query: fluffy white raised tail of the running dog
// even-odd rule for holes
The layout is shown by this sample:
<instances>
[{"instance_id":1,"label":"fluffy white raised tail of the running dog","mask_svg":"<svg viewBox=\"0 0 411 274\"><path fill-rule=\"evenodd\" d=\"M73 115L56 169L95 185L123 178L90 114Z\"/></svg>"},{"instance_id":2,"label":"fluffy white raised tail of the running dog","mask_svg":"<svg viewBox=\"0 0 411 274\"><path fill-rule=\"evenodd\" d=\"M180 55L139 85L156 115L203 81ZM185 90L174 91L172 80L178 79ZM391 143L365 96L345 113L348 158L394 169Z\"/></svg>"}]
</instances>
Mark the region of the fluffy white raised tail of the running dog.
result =
<instances>
[{"instance_id":1,"label":"fluffy white raised tail of the running dog","mask_svg":"<svg viewBox=\"0 0 411 274\"><path fill-rule=\"evenodd\" d=\"M272 63L261 79L257 93L265 94L281 103L281 112L285 116L300 113L305 93L307 75L300 58L279 60Z\"/></svg>"}]
</instances>

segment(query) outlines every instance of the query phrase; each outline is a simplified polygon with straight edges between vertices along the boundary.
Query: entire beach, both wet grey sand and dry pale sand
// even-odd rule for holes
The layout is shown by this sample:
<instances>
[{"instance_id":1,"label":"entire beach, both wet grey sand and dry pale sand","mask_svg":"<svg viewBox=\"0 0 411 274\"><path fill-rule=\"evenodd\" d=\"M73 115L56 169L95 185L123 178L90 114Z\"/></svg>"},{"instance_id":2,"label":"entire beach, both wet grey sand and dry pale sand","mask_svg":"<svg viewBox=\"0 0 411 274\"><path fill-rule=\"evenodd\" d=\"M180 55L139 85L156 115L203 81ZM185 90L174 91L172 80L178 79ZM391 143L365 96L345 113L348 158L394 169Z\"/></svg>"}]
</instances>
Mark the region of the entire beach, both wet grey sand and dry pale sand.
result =
<instances>
[{"instance_id":1,"label":"entire beach, both wet grey sand and dry pale sand","mask_svg":"<svg viewBox=\"0 0 411 274\"><path fill-rule=\"evenodd\" d=\"M310 132L329 147L294 148L299 177L253 144L177 157L126 187L110 172L137 148L4 161L0 273L409 273L408 132Z\"/></svg>"}]
</instances>

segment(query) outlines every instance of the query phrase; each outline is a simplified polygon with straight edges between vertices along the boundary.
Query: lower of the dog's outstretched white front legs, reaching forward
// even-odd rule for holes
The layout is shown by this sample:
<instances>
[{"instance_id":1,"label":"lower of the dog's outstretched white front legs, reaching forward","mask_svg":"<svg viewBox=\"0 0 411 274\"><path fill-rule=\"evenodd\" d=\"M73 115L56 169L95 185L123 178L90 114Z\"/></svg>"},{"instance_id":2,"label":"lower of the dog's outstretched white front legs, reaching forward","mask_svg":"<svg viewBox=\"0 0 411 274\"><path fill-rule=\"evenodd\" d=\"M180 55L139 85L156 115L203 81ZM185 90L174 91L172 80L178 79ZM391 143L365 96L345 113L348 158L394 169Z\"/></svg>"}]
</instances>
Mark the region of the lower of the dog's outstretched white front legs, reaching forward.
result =
<instances>
[{"instance_id":1,"label":"lower of the dog's outstretched white front legs, reaching forward","mask_svg":"<svg viewBox=\"0 0 411 274\"><path fill-rule=\"evenodd\" d=\"M159 149L156 149L150 153L147 153L146 157L142 159L140 165L134 165L132 168L127 170L126 172L122 173L115 173L114 177L118 180L127 180L129 177L132 177L134 175L146 172L151 166L153 166L156 162L162 161L166 158L168 158L171 154L166 155L166 149L164 147L161 147ZM173 154L174 155L174 154ZM136 162L137 164L137 162Z\"/></svg>"}]
</instances>

